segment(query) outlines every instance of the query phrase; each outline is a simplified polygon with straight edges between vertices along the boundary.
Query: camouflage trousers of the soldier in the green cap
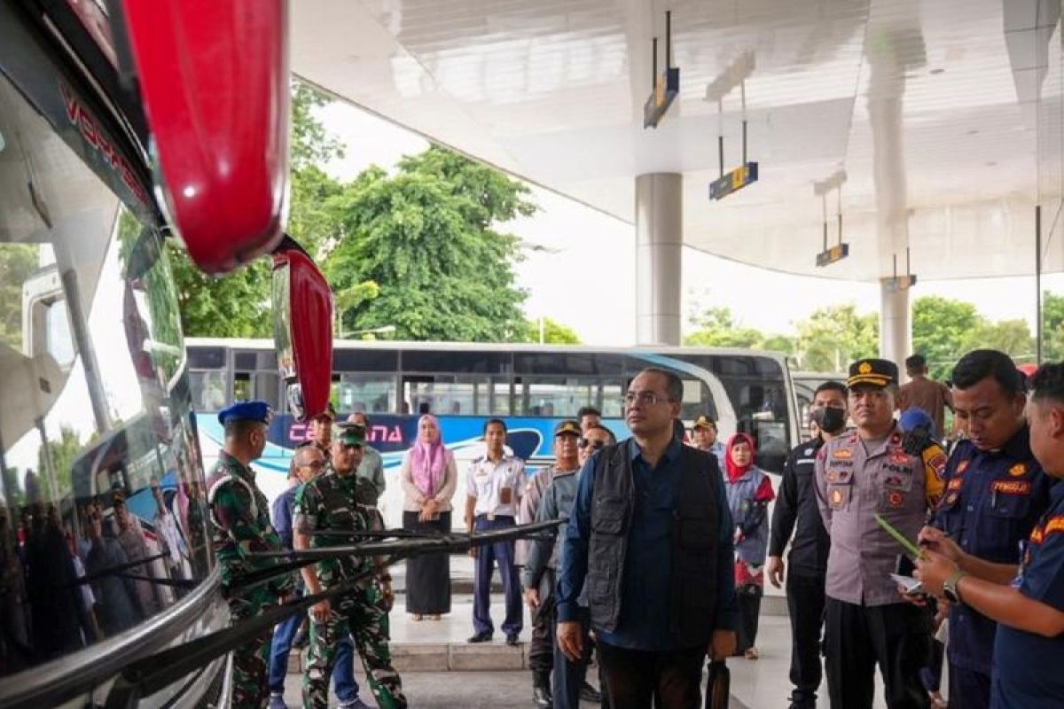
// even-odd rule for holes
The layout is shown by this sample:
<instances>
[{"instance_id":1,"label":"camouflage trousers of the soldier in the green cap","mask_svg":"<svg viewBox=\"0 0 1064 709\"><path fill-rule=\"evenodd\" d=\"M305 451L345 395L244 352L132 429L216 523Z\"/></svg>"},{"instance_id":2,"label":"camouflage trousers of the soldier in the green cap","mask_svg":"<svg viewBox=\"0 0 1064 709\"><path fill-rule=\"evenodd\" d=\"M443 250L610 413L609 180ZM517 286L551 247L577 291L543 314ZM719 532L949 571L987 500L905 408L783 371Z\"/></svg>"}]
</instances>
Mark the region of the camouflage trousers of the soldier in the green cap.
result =
<instances>
[{"instance_id":1,"label":"camouflage trousers of the soldier in the green cap","mask_svg":"<svg viewBox=\"0 0 1064 709\"><path fill-rule=\"evenodd\" d=\"M377 584L340 598L333 598L329 620L311 620L311 648L303 673L303 707L329 706L329 678L339 641L350 631L362 657L369 689L381 709L406 709L402 680L392 666L388 649L388 613Z\"/></svg>"}]
</instances>

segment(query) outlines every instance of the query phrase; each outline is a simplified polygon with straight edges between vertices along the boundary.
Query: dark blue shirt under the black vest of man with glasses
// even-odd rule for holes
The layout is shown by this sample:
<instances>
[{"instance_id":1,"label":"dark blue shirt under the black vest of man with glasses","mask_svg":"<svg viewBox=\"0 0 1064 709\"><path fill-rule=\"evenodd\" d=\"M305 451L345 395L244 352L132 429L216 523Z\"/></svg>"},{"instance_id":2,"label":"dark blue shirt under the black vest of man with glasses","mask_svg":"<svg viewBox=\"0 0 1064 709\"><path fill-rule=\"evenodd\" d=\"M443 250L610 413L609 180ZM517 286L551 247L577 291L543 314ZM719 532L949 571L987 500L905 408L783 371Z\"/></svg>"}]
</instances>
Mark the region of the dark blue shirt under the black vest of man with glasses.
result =
<instances>
[{"instance_id":1,"label":"dark blue shirt under the black vest of man with glasses","mask_svg":"<svg viewBox=\"0 0 1064 709\"><path fill-rule=\"evenodd\" d=\"M632 459L635 505L628 534L628 554L621 581L620 617L614 632L596 630L609 645L642 651L676 649L669 630L671 584L672 511L680 493L680 451L677 440L653 469L643 459L634 439L621 443ZM587 543L591 537L592 500L595 493L595 459L580 471L573 513L565 529L562 571L558 585L558 620L579 619L577 600L587 575ZM720 529L717 541L717 598L715 629L734 629L736 622L733 573L732 522L724 486L716 486Z\"/></svg>"}]
</instances>

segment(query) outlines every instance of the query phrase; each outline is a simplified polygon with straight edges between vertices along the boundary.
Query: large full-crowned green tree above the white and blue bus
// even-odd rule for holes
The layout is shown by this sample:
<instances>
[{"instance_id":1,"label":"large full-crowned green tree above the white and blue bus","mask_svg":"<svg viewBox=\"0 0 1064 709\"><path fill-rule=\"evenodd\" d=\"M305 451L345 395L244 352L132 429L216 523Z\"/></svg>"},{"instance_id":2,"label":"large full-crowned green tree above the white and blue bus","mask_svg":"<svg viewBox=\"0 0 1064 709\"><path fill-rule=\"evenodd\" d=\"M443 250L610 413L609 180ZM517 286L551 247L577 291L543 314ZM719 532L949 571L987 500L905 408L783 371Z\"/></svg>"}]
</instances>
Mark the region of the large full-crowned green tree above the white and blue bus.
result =
<instances>
[{"instance_id":1,"label":"large full-crowned green tree above the white and blue bus","mask_svg":"<svg viewBox=\"0 0 1064 709\"><path fill-rule=\"evenodd\" d=\"M531 215L528 188L433 146L371 167L330 200L340 232L326 259L337 292L378 284L343 311L345 328L394 325L414 340L504 341L526 327L513 263L517 239L496 225Z\"/></svg>"}]
</instances>

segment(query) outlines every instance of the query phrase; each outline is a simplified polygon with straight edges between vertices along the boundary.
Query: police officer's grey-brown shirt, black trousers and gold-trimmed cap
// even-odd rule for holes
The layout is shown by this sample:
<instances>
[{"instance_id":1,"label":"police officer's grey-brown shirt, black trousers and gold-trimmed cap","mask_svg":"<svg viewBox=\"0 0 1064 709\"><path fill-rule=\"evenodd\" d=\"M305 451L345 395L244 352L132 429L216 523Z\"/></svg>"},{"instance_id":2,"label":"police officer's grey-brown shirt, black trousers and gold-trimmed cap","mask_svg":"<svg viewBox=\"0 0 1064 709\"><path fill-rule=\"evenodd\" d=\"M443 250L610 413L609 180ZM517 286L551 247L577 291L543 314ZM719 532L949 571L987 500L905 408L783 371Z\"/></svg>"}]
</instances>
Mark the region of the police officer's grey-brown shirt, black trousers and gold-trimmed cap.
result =
<instances>
[{"instance_id":1,"label":"police officer's grey-brown shirt, black trousers and gold-trimmed cap","mask_svg":"<svg viewBox=\"0 0 1064 709\"><path fill-rule=\"evenodd\" d=\"M897 382L894 362L863 359L850 366L847 386ZM851 432L825 443L816 457L817 499L831 540L825 655L835 709L871 707L877 662L887 706L928 706L919 671L930 654L929 619L899 597L891 573L902 550L875 516L915 540L941 496L945 459L936 468L901 443L897 426L878 440Z\"/></svg>"}]
</instances>

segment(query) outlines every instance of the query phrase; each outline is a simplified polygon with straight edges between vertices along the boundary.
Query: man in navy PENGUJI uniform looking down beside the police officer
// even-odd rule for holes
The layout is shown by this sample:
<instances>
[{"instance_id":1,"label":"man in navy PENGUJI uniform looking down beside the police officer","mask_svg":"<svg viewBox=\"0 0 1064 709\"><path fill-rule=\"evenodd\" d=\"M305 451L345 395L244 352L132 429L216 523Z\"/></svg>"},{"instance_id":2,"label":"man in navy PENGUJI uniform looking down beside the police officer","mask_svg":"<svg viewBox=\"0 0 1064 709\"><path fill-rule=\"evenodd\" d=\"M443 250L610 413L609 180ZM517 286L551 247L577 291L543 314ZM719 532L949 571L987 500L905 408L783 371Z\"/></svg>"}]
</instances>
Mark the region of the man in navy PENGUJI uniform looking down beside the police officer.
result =
<instances>
[{"instance_id":1,"label":"man in navy PENGUJI uniform looking down beside the police officer","mask_svg":"<svg viewBox=\"0 0 1064 709\"><path fill-rule=\"evenodd\" d=\"M1019 543L1048 507L1051 485L1031 453L1024 377L1003 352L975 350L950 378L968 438L950 455L933 524L967 554L1018 563ZM950 706L990 706L996 631L994 621L968 606L950 608Z\"/></svg>"}]
</instances>

